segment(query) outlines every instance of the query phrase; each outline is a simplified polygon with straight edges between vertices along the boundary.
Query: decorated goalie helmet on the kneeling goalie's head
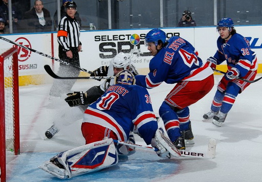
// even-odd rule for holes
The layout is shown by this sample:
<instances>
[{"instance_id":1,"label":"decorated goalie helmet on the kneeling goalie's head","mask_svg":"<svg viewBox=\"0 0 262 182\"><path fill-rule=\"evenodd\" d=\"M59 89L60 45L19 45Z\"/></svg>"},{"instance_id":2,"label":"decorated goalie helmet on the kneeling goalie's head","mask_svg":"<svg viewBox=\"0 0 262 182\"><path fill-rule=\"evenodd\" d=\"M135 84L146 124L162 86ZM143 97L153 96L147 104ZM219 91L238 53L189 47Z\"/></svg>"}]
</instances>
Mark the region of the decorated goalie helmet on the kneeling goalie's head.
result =
<instances>
[{"instance_id":1,"label":"decorated goalie helmet on the kneeling goalie's head","mask_svg":"<svg viewBox=\"0 0 262 182\"><path fill-rule=\"evenodd\" d=\"M135 76L129 70L119 72L115 77L115 84L134 85L136 83Z\"/></svg>"}]
</instances>

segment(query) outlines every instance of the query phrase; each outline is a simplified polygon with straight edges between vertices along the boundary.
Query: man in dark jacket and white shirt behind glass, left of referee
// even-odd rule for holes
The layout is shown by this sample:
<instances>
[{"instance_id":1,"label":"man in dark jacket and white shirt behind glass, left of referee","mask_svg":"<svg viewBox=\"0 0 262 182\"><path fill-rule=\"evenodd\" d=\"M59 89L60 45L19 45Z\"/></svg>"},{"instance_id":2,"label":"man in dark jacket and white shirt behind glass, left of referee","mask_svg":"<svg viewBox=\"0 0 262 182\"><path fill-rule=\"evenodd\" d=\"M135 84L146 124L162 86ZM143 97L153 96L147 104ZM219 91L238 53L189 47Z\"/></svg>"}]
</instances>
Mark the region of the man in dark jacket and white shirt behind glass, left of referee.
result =
<instances>
[{"instance_id":1,"label":"man in dark jacket and white shirt behind glass, left of referee","mask_svg":"<svg viewBox=\"0 0 262 182\"><path fill-rule=\"evenodd\" d=\"M41 0L36 0L34 7L24 15L27 32L51 32L52 20L50 12L43 8Z\"/></svg>"}]
</instances>

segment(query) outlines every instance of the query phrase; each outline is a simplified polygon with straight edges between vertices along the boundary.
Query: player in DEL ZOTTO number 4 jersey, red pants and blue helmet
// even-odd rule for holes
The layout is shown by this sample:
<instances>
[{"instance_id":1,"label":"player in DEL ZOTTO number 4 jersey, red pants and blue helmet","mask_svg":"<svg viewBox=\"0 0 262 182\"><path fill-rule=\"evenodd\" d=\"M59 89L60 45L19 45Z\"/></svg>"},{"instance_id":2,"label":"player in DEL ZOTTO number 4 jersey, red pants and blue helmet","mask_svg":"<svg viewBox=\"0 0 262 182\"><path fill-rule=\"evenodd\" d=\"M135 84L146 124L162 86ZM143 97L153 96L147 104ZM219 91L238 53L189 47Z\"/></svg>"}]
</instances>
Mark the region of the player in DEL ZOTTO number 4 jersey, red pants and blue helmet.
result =
<instances>
[{"instance_id":1,"label":"player in DEL ZOTTO number 4 jersey, red pants and blue helmet","mask_svg":"<svg viewBox=\"0 0 262 182\"><path fill-rule=\"evenodd\" d=\"M145 36L151 55L150 72L137 75L137 85L154 88L163 81L177 83L159 108L170 140L178 149L185 149L185 141L193 144L188 106L203 98L213 87L212 69L203 65L198 52L185 39L173 36L166 40L160 29L152 29Z\"/></svg>"}]
</instances>

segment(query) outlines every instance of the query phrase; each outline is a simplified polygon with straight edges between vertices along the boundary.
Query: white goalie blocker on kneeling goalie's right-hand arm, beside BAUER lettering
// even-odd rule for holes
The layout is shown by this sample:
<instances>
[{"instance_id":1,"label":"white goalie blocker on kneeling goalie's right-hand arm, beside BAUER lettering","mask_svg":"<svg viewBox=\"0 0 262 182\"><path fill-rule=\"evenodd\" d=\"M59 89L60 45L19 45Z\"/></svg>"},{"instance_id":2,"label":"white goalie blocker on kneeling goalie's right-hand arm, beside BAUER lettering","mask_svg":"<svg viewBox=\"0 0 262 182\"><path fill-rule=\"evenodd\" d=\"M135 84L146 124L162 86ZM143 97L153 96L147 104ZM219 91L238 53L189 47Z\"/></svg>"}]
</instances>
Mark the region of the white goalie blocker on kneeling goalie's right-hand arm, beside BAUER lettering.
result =
<instances>
[{"instance_id":1,"label":"white goalie blocker on kneeling goalie's right-hand arm, beside BAUER lettering","mask_svg":"<svg viewBox=\"0 0 262 182\"><path fill-rule=\"evenodd\" d=\"M156 131L155 140L158 143L158 148L160 145L160 148L166 149L172 156L179 157L181 156L181 153L179 150L172 144L172 142L163 134L163 129L159 128Z\"/></svg>"}]
</instances>

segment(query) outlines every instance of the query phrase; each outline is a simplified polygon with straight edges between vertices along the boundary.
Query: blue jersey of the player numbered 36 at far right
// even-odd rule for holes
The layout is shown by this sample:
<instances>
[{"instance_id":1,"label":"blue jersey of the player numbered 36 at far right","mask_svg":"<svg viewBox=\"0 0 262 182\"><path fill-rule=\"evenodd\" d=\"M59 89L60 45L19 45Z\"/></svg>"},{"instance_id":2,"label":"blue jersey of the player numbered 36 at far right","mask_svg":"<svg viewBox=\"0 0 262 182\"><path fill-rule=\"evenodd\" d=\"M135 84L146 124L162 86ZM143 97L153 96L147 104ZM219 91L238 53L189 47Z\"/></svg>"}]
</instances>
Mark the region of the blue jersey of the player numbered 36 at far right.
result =
<instances>
[{"instance_id":1,"label":"blue jersey of the player numbered 36 at far right","mask_svg":"<svg viewBox=\"0 0 262 182\"><path fill-rule=\"evenodd\" d=\"M239 70L240 77L246 76L250 70L257 70L256 54L251 50L249 40L242 35L235 33L227 42L219 36L216 43L218 50L214 58L217 64L226 60L228 66Z\"/></svg>"}]
</instances>

